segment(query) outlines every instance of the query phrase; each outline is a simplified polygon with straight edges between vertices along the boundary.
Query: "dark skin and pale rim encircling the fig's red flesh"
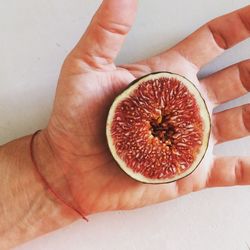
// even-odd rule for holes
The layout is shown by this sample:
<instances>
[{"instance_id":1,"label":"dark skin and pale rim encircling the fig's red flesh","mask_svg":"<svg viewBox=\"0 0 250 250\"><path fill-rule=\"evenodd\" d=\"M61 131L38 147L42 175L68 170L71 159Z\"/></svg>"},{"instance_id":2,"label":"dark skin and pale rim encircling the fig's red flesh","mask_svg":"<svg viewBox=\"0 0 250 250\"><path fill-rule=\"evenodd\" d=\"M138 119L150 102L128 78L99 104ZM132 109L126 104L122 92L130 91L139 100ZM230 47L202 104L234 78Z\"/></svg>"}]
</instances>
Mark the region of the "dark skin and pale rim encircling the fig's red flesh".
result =
<instances>
[{"instance_id":1,"label":"dark skin and pale rim encircling the fig's red flesh","mask_svg":"<svg viewBox=\"0 0 250 250\"><path fill-rule=\"evenodd\" d=\"M169 77L171 75L173 75L173 78L175 77L180 77L182 78L183 80L185 79L185 81L189 82L190 85L192 85L192 87L194 87L197 91L197 93L199 94L199 98L203 101L204 103L204 107L205 107L205 111L207 113L207 123L206 123L206 126L207 126L207 129L208 129L208 132L207 132L207 140L205 141L205 143L203 142L202 145L205 146L205 150L204 150L204 153L202 154L202 157L199 159L199 161L196 163L195 167L192 168L192 171L184 171L184 175L182 176L179 176L177 178L174 178L174 179L171 179L171 178L166 178L166 179L159 179L159 181L156 181L155 178L152 178L150 181L150 178L147 177L147 180L144 181L142 179L139 178L139 176L141 175L140 173L133 173L133 175L130 175L125 169L124 167L121 166L119 160L117 160L117 153L115 152L114 153L114 150L111 148L111 143L110 143L110 137L112 138L112 136L109 134L109 126L110 126L110 121L109 121L109 117L111 114L111 108L112 106L114 105L114 103L124 94L124 92L126 92L128 89L130 89L134 84L138 83L140 80L144 79L144 78L148 78L150 76L154 76L154 75L158 75L158 74L167 74L169 75ZM195 96L196 97L196 96ZM197 100L196 100L197 101ZM119 102L118 102L119 104ZM123 172L126 173L126 175L128 175L130 178L138 181L138 182L141 182L141 183L144 183L144 184L166 184L166 183L172 183L172 182L176 182L177 180L181 180L189 175L191 175L197 168L198 166L200 165L200 163L202 162L202 160L204 159L205 155L206 155L206 152L207 152L207 148L208 148L208 145L209 145L209 141L210 141L210 136L211 136L211 116L210 116L210 113L209 113L209 110L208 110L208 107L207 107L207 104L206 104L206 101L204 100L203 96L201 95L200 91L197 89L197 87L190 81L188 80L186 77L180 75L180 74L176 74L176 73L172 73L172 72L168 72L168 71L157 71L157 72L152 72L150 74L147 74L147 75L144 75L142 77L139 77L137 79L135 79L134 81L132 81L113 101L112 105L111 105L111 108L109 110L109 113L108 113L108 118L107 118L107 123L106 123L106 136L107 136L107 140L108 140L108 146L109 146L109 149L111 151L111 154L113 155L113 158L115 159L115 161L117 162L118 166L123 170ZM202 111L203 112L203 111ZM200 112L200 113L202 113ZM114 155L115 154L115 155ZM119 156L118 156L119 158ZM129 167L127 167L129 169ZM138 175L138 176L137 176Z\"/></svg>"}]
</instances>

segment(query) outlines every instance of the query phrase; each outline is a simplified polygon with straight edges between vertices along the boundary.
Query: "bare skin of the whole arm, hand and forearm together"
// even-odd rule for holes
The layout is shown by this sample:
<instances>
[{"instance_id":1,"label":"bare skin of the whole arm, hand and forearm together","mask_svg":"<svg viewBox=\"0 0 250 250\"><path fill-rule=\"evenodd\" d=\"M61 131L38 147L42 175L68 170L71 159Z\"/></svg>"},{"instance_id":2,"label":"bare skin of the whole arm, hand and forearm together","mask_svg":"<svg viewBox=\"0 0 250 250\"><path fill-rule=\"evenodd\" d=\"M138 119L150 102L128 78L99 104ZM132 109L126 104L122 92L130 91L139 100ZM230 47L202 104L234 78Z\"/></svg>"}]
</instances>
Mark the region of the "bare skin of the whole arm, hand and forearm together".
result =
<instances>
[{"instance_id":1,"label":"bare skin of the whole arm, hand and forearm together","mask_svg":"<svg viewBox=\"0 0 250 250\"><path fill-rule=\"evenodd\" d=\"M34 140L38 175L30 155L31 135L0 147L0 249L31 240L84 215L159 203L208 187L249 185L250 157L215 157L213 147L250 135L250 104L212 115L219 104L250 90L250 61L205 79L200 68L250 35L250 6L219 17L171 49L129 65L115 65L136 15L136 0L104 0L87 31L65 59L48 123ZM109 107L134 79L170 71L202 92L212 118L208 153L190 176L162 185L139 183L112 158L105 137Z\"/></svg>"}]
</instances>

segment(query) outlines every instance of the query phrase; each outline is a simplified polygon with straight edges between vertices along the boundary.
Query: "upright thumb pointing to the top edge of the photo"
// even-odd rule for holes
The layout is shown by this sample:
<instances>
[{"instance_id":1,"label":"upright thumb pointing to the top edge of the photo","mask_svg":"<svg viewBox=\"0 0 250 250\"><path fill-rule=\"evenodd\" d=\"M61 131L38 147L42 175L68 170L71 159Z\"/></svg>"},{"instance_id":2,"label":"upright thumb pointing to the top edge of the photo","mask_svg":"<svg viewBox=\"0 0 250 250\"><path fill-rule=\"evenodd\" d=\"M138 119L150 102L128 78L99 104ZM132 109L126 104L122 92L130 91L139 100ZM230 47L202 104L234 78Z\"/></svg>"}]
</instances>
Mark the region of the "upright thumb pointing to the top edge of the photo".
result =
<instances>
[{"instance_id":1,"label":"upright thumb pointing to the top edge of the photo","mask_svg":"<svg viewBox=\"0 0 250 250\"><path fill-rule=\"evenodd\" d=\"M73 50L90 66L113 63L136 15L136 0L104 0Z\"/></svg>"}]
</instances>

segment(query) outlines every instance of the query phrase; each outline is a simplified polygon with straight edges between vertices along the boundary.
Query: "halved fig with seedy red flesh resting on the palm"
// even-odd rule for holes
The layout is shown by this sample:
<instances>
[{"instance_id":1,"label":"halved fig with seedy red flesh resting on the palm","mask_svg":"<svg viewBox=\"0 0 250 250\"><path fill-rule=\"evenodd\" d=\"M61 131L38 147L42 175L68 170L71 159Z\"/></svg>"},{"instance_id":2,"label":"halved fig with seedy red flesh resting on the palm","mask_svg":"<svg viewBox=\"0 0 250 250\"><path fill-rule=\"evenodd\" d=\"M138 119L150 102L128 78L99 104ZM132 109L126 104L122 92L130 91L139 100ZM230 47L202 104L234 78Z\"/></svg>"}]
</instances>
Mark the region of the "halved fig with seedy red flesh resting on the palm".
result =
<instances>
[{"instance_id":1,"label":"halved fig with seedy red flesh resting on the palm","mask_svg":"<svg viewBox=\"0 0 250 250\"><path fill-rule=\"evenodd\" d=\"M168 183L192 173L210 137L210 115L183 76L157 72L135 80L113 102L107 140L119 166L144 183Z\"/></svg>"}]
</instances>

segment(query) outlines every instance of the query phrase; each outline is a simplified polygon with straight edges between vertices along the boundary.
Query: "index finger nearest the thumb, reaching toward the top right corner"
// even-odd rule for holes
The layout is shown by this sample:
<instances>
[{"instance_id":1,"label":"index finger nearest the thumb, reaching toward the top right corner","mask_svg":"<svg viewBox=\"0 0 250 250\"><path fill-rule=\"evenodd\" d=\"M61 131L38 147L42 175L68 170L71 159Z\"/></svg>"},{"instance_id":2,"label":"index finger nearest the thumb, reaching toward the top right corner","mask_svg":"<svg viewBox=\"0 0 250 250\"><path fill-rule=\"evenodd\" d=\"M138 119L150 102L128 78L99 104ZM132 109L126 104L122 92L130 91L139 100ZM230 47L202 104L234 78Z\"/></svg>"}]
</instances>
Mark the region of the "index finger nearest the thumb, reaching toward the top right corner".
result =
<instances>
[{"instance_id":1,"label":"index finger nearest the thumb, reaching toward the top right corner","mask_svg":"<svg viewBox=\"0 0 250 250\"><path fill-rule=\"evenodd\" d=\"M250 5L208 22L172 50L201 68L249 35Z\"/></svg>"}]
</instances>

